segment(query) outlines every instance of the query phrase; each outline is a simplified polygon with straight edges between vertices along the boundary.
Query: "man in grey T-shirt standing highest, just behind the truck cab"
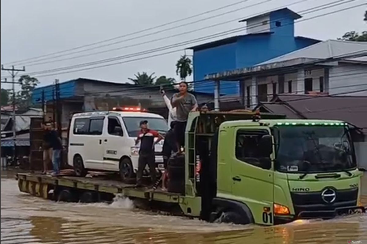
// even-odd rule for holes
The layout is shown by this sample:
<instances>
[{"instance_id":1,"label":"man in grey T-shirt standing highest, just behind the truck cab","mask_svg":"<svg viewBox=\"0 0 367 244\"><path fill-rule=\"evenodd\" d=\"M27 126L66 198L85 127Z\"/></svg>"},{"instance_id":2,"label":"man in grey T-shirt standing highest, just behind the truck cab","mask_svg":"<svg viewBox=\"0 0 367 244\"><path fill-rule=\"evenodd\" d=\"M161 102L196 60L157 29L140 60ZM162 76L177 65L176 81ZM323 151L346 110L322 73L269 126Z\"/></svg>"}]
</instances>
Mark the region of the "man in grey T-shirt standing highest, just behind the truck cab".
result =
<instances>
[{"instance_id":1,"label":"man in grey T-shirt standing highest, just behind the truck cab","mask_svg":"<svg viewBox=\"0 0 367 244\"><path fill-rule=\"evenodd\" d=\"M185 146L185 128L190 112L196 111L197 101L193 94L187 92L188 84L182 81L179 84L179 93L172 96L172 107L177 108L177 122L175 124L175 137L178 151Z\"/></svg>"}]
</instances>

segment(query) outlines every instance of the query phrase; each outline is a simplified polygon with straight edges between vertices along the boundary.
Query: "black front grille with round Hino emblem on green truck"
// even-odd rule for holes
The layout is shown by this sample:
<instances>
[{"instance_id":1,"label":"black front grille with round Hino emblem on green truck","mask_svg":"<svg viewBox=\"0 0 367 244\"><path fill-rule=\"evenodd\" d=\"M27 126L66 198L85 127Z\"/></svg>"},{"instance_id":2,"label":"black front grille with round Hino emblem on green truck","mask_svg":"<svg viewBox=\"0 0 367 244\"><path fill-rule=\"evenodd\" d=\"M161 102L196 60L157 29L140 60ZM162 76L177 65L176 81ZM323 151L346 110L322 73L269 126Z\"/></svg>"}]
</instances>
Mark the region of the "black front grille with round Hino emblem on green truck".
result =
<instances>
[{"instance_id":1,"label":"black front grille with round Hino emblem on green truck","mask_svg":"<svg viewBox=\"0 0 367 244\"><path fill-rule=\"evenodd\" d=\"M302 211L327 211L335 210L338 207L357 205L358 188L346 190L333 188L331 192L326 189L317 192L291 192L295 214L298 215ZM326 200L321 196L325 190L324 199ZM335 199L329 203L334 198L330 196L330 193L333 195L333 191L335 192Z\"/></svg>"}]
</instances>

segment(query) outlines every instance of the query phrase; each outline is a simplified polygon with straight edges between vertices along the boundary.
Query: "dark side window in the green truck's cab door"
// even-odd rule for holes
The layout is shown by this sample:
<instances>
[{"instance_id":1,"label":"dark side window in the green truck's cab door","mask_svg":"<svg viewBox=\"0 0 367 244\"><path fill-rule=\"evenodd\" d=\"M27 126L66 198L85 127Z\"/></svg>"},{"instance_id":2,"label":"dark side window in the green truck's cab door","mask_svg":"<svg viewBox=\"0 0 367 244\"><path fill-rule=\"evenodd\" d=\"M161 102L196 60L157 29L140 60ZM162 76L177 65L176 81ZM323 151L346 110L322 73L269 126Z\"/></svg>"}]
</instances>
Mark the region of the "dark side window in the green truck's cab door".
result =
<instances>
[{"instance_id":1,"label":"dark side window in the green truck's cab door","mask_svg":"<svg viewBox=\"0 0 367 244\"><path fill-rule=\"evenodd\" d=\"M259 141L263 135L268 135L267 131L261 130L239 130L236 135L236 158L252 164L261 166L261 148Z\"/></svg>"}]
</instances>

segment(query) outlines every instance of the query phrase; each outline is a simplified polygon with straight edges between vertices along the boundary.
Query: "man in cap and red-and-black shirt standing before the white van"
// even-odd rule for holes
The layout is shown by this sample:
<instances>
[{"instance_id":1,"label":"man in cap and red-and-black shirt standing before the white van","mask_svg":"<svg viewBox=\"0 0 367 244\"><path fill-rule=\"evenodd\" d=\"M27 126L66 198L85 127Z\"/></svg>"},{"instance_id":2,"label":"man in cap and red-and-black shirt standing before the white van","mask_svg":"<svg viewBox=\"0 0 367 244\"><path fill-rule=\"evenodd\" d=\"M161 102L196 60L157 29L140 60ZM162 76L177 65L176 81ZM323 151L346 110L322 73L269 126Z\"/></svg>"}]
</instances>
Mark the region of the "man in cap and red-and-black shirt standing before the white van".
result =
<instances>
[{"instance_id":1,"label":"man in cap and red-and-black shirt standing before the white van","mask_svg":"<svg viewBox=\"0 0 367 244\"><path fill-rule=\"evenodd\" d=\"M149 166L152 184L156 182L154 146L156 143L163 139L157 131L148 129L148 121L146 120L140 121L140 128L141 130L139 132L138 138L135 140L135 144L138 144L138 142L140 141L137 186L141 186L143 170L145 169L145 166L147 164ZM156 142L154 142L154 138L158 138Z\"/></svg>"}]
</instances>

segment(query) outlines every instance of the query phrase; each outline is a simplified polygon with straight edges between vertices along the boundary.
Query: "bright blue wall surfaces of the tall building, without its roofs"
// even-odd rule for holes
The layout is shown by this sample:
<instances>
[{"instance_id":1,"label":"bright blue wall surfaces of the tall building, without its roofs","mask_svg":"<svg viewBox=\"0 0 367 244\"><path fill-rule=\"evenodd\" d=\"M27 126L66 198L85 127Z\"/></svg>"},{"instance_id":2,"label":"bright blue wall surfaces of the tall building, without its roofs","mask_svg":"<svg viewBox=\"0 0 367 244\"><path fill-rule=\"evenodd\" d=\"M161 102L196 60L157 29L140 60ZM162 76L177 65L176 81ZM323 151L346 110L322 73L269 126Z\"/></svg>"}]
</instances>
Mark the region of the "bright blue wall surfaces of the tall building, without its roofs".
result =
<instances>
[{"instance_id":1,"label":"bright blue wall surfaces of the tall building, without its roofs","mask_svg":"<svg viewBox=\"0 0 367 244\"><path fill-rule=\"evenodd\" d=\"M276 21L280 26L276 26ZM253 66L294 50L315 44L317 40L294 37L294 19L287 11L270 13L271 34L243 35L236 42L194 51L194 79L207 74ZM195 91L213 93L214 85L195 84ZM238 82L221 82L221 94L239 94Z\"/></svg>"}]
</instances>

